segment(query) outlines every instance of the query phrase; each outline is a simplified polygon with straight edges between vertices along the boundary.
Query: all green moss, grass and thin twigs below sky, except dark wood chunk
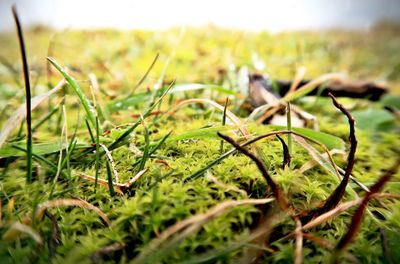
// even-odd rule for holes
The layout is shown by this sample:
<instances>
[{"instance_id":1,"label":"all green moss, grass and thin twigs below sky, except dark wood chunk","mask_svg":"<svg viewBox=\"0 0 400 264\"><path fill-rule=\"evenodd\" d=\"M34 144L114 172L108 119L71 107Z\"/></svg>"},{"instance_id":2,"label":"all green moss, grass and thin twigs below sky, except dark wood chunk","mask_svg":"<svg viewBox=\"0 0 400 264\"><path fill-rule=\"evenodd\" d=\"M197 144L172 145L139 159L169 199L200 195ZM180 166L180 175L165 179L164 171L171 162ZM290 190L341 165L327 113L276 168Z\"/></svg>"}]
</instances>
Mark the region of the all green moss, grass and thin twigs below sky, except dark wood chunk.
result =
<instances>
[{"instance_id":1,"label":"all green moss, grass and thin twigs below sky, except dark wood chunk","mask_svg":"<svg viewBox=\"0 0 400 264\"><path fill-rule=\"evenodd\" d=\"M0 262L395 263L398 33L30 29L32 155L18 38L2 34ZM320 132L249 119L245 68L300 66L391 90L292 96Z\"/></svg>"}]
</instances>

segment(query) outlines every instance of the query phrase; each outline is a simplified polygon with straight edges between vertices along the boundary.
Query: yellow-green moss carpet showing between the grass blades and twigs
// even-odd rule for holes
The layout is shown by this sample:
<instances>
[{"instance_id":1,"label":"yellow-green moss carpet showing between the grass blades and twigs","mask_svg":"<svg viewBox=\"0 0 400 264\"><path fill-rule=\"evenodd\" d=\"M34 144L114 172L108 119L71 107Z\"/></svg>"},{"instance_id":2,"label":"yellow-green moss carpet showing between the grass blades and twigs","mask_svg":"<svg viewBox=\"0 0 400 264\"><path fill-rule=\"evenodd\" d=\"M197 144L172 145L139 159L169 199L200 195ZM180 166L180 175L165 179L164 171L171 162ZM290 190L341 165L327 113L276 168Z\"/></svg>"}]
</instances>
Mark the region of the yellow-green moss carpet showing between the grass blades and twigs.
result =
<instances>
[{"instance_id":1,"label":"yellow-green moss carpet showing between the grass blades and twigs","mask_svg":"<svg viewBox=\"0 0 400 264\"><path fill-rule=\"evenodd\" d=\"M90 92L89 83L85 81L86 75L94 72L97 76L100 87L100 93L96 94L97 109L101 109L103 113L99 115L101 144L110 146L138 120L139 114L145 112L152 96L155 95L153 87L160 76L162 65L156 65L146 82L133 95L128 96L132 91L132 83L135 83L132 80L138 80L147 70L146 65L153 59L155 50L160 50L160 59L168 56L168 52L172 50L172 42L169 40L173 39L171 36L175 36L175 33L171 31L157 36L149 32L69 32L62 38L68 40L71 48L56 45L53 56L69 66L70 74L76 77L87 95ZM35 36L28 33L28 41L34 43L30 54L39 54L47 50L40 44L47 45L46 34L48 32L39 32ZM235 95L204 89L171 93L164 97L162 104L153 109L144 123L112 150L115 164L113 169L119 175L115 184L126 183L137 176L143 153L149 151L150 154L145 162L146 173L123 195L111 196L107 185L97 186L95 189L93 181L81 176L96 174L93 144L95 140L89 135L83 111L79 110L79 101L72 91L66 89L63 102L67 120L63 120L62 111L59 110L46 119L34 133L34 143L50 142L53 151L43 152L44 154L35 157L32 184L27 184L25 180L24 156L13 148L13 144L24 143L23 129L20 132L16 131L6 146L0 149L4 151L7 147L11 151L10 155L2 157L0 168L0 235L3 238L0 242L1 263L127 263L138 256L144 256L145 262L156 263L235 263L240 258L249 256L251 250L260 250L257 256L263 262L293 262L295 240L285 236L295 229L295 223L287 215L278 213L275 202L230 208L217 217L195 222L201 224L196 228L191 226L192 230L185 229L187 233L175 232L151 251L152 243L162 238L166 230L191 217L206 214L224 202L273 197L264 177L254 163L243 154L232 153L218 164L209 166L231 149L228 143L224 143L221 152L221 139L217 137L216 131L210 130L221 128L220 111L207 104L198 103L172 115L167 112L188 98L207 98L224 102L226 96L229 96L228 109L237 115L242 113L239 118L244 119L247 117L245 111L239 108L244 95L236 93L240 90L236 83L237 69L228 68L228 62L233 60L239 68L251 61L253 52L273 54L266 58L269 61L270 73L287 78L293 76L294 65L298 63L293 54L295 46L290 35L249 34L249 42L253 43L250 46L254 47L254 50L251 50L242 42L235 42L234 32L194 29L188 34L182 46L177 49L176 57L164 82L161 83L161 89L168 86L173 76L178 76L178 82L219 84L231 88ZM0 37L0 40L4 38L6 37ZM353 38L362 41L337 48L338 43ZM94 43L87 41L88 39ZM302 64L310 70L309 77L332 72L336 68L345 68L353 76L359 77L368 73L372 78L379 76L381 71L387 69L385 67L392 65L388 66L389 62L386 60L373 60L373 67L362 67L363 63L369 60L366 57L369 52L366 50L373 49L382 54L392 54L394 46L390 45L388 50L382 49L380 45L384 41L380 40L377 43L361 33L323 36L307 33L302 39L304 42L301 47L305 55L302 56ZM398 38L393 39L398 41ZM236 48L232 51L227 49L226 45L236 45ZM76 57L76 47L82 50L79 60ZM0 54L6 51L4 55L7 55L10 50L11 47L2 49ZM354 61L341 56L352 52L363 56L354 55ZM11 53L9 58L14 60ZM393 59L393 56L382 57L387 57L390 61ZM35 60L31 60L31 63L38 76L44 76L42 63ZM134 65L134 71L127 65ZM56 81L55 76L49 76L51 83ZM18 90L18 84L10 74L1 75L0 80L1 91ZM393 79L392 84L396 83L398 80ZM46 85L42 79L39 79L38 84L37 89ZM10 92L0 96L1 124L5 123L6 118L23 99L22 94L15 94L11 100ZM125 100L126 97L133 99ZM50 109L57 106L57 100L49 99ZM343 102L351 111L363 111L366 107L382 108L379 102ZM314 97L295 103L317 117L322 132L347 142L347 122L330 101ZM117 104L120 105L116 107ZM33 120L41 120L49 112L49 108L43 105L36 109L33 112ZM61 135L64 122L67 135ZM396 133L399 126L396 122L393 123L392 130L388 131L356 129L358 149L353 175L367 187L371 187L399 156L400 140ZM232 129L221 128L224 134L244 142L244 137L238 132L237 126L234 127L235 124L228 122L226 126ZM250 137L254 137L274 131L276 127L250 122L246 124L245 129ZM163 144L158 145L170 131L171 135ZM92 134L95 135L93 128ZM60 151L57 146L60 146L65 138L68 139L66 145L74 139L78 147L70 148L70 152L65 149ZM303 170L303 166L315 157L300 144L293 144L291 165L286 169L282 168L282 145L275 137L254 145L257 149L249 149L262 159L268 173L287 195L294 213L300 214L320 205L340 181L336 175L329 173L326 167L315 166ZM311 145L316 151L323 153L320 146ZM333 155L334 161L340 167L346 166L347 152L348 145L339 152L340 154ZM107 155L101 150L99 178L103 181L107 180L106 162ZM200 177L191 177L204 168L208 170L200 174ZM112 176L115 178L115 175ZM397 173L382 190L384 193L393 194L390 199L371 200L368 204L360 231L348 249L351 254L350 260L351 257L355 257L363 263L381 263L390 258L397 259L396 248L399 243L396 234L400 231L400 204L395 194L400 190L399 180L400 176ZM359 185L350 182L343 202L364 195L365 191ZM47 209L43 218L35 217L38 208L44 203L63 199L85 200L104 212L111 224L107 226L98 211L77 206L56 206ZM308 234L322 239L325 244L305 239L302 248L303 259L310 263L330 259L332 247L347 232L354 213L355 207L352 207L334 219L310 229ZM10 235L10 231L15 231L15 223L23 224L26 229ZM268 223L265 226L269 235L264 237L263 243L255 243L252 236L260 223ZM35 235L41 241L35 240ZM347 260L348 256L345 255L343 261Z\"/></svg>"}]
</instances>

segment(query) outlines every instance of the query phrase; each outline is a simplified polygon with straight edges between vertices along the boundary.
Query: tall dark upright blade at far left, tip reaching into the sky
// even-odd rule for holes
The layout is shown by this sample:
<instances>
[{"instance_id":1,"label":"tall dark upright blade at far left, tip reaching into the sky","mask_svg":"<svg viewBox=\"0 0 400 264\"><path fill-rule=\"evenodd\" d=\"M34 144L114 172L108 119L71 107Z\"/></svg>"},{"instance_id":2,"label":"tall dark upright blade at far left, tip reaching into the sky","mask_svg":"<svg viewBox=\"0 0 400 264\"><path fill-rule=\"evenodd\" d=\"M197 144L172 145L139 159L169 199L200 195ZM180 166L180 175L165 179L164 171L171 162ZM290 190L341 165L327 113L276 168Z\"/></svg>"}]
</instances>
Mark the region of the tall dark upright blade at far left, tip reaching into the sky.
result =
<instances>
[{"instance_id":1,"label":"tall dark upright blade at far left, tip reaching into the sky","mask_svg":"<svg viewBox=\"0 0 400 264\"><path fill-rule=\"evenodd\" d=\"M17 26L18 40L21 49L22 65L25 79L25 92L26 92L26 180L28 183L32 182L32 118L31 118L31 85L29 81L29 68L28 60L26 58L24 36L22 33L21 23L19 22L17 8L12 6L12 13L14 16L15 24Z\"/></svg>"}]
</instances>

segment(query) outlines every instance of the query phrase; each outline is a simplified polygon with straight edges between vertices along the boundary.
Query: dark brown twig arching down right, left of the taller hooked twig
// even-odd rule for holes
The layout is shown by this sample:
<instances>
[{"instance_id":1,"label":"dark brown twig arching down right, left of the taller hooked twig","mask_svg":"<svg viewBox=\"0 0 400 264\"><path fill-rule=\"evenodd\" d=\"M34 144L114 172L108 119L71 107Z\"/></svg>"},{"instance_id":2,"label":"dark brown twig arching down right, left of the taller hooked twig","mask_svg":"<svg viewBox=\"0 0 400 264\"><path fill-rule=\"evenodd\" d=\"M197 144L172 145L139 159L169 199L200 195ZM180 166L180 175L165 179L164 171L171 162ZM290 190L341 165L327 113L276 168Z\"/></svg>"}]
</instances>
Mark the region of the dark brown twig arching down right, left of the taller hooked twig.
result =
<instances>
[{"instance_id":1,"label":"dark brown twig arching down right, left of the taller hooked twig","mask_svg":"<svg viewBox=\"0 0 400 264\"><path fill-rule=\"evenodd\" d=\"M275 199L279 205L279 207L283 211L287 211L289 208L289 202L285 196L285 194L281 191L281 189L278 187L278 185L275 183L275 181L271 178L269 173L264 167L263 162L256 157L253 153L248 151L247 149L241 147L236 141L234 141L232 138L221 134L220 132L217 133L219 137L223 138L225 141L230 143L232 146L234 146L238 151L242 152L244 155L249 157L256 163L257 168L260 170L261 174L264 176L265 180L267 181L268 185L271 187L272 193L275 196Z\"/></svg>"}]
</instances>

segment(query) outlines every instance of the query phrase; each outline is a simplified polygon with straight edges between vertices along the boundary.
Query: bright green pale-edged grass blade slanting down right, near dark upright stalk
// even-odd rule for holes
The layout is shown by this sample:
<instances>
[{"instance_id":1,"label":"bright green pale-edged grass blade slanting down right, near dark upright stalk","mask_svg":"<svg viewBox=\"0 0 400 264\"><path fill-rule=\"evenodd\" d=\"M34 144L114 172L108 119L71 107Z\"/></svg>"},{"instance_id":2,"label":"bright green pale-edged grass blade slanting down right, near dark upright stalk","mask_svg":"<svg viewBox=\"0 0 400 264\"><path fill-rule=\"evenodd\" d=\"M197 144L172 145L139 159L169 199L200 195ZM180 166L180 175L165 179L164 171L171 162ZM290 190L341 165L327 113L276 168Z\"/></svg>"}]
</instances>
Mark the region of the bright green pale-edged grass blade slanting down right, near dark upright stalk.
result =
<instances>
[{"instance_id":1,"label":"bright green pale-edged grass blade slanting down right, near dark upright stalk","mask_svg":"<svg viewBox=\"0 0 400 264\"><path fill-rule=\"evenodd\" d=\"M71 77L53 58L47 58L47 60L61 73L61 75L65 78L67 83L71 86L74 92L78 95L79 100L81 101L83 108L86 111L86 117L89 119L91 125L93 127L96 126L96 110L93 107L92 103L83 93L81 87L76 82L76 80Z\"/></svg>"}]
</instances>

